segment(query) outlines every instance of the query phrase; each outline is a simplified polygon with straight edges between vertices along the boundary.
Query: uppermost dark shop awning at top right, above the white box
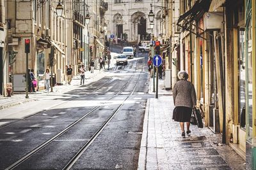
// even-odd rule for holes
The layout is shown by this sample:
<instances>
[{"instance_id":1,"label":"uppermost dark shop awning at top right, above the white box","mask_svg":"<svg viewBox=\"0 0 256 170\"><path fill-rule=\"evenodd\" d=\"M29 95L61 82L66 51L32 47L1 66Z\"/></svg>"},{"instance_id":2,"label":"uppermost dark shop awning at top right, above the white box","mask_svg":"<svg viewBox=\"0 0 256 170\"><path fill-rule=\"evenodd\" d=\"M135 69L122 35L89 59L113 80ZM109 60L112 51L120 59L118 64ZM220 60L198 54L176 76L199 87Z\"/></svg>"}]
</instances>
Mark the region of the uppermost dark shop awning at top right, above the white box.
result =
<instances>
[{"instance_id":1,"label":"uppermost dark shop awning at top right, above the white box","mask_svg":"<svg viewBox=\"0 0 256 170\"><path fill-rule=\"evenodd\" d=\"M200 13L205 13L206 11L208 11L210 5L211 0L197 0L190 10L186 11L186 13L184 13L183 15L180 15L177 24L179 24L182 20L185 19L185 21L195 20L195 17L197 15L200 15Z\"/></svg>"}]
</instances>

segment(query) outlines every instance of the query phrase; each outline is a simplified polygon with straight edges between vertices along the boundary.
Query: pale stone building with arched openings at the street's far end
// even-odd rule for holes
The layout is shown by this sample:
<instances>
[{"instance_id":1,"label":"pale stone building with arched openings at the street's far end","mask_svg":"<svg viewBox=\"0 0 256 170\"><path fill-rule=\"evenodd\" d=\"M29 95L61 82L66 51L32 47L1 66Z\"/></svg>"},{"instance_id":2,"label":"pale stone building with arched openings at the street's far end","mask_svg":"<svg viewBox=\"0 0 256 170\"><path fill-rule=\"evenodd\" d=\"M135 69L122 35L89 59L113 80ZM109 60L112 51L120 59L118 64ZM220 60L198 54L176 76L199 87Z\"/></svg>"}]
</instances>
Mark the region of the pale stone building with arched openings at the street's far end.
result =
<instances>
[{"instance_id":1,"label":"pale stone building with arched openings at the street's far end","mask_svg":"<svg viewBox=\"0 0 256 170\"><path fill-rule=\"evenodd\" d=\"M143 0L131 0L122 3L121 1L109 0L108 5L108 11L105 15L106 24L108 25L108 38L113 34L115 39L124 39L124 34L127 34L128 41L138 42L147 39L148 34L154 34L154 36L161 34L161 9L155 7L161 6L160 1L152 1L152 10L156 15L154 29L150 29L149 25L150 3L148 1L145 3Z\"/></svg>"}]
</instances>

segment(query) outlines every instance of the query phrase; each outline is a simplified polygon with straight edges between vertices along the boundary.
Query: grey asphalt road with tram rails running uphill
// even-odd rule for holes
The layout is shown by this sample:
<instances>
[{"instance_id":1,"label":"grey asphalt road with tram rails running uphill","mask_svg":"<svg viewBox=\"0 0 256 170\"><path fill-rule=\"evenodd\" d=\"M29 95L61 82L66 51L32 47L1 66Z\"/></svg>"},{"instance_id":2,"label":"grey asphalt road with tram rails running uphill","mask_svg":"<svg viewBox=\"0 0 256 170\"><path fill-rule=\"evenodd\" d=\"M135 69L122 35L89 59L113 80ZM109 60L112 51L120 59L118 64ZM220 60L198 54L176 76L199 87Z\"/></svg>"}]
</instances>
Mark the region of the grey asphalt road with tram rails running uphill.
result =
<instances>
[{"instance_id":1,"label":"grey asphalt road with tram rails running uphill","mask_svg":"<svg viewBox=\"0 0 256 170\"><path fill-rule=\"evenodd\" d=\"M70 160L70 169L136 169L147 91L145 53L54 99L67 102L0 128L0 169L63 169Z\"/></svg>"}]
</instances>

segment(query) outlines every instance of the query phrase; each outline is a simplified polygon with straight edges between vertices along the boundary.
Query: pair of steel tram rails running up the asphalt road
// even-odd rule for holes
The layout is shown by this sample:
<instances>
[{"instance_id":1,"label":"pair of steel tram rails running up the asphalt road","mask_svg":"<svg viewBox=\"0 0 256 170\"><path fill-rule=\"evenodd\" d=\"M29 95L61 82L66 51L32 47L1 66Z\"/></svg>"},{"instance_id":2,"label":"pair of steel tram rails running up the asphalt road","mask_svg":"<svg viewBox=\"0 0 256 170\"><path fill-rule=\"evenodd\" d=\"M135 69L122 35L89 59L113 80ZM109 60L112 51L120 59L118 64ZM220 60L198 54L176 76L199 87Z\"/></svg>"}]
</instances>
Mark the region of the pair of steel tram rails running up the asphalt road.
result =
<instances>
[{"instance_id":1,"label":"pair of steel tram rails running up the asphalt road","mask_svg":"<svg viewBox=\"0 0 256 170\"><path fill-rule=\"evenodd\" d=\"M140 72L141 74L141 72ZM102 124L100 126L100 128L98 129L97 132L95 132L95 134L93 134L92 138L90 138L90 140L88 142L86 142L86 144L81 148L81 150L79 150L79 152L76 153L76 155L70 160L70 162L68 162L67 166L65 166L64 169L71 167L77 159L79 159L79 157L83 154L83 152L86 150L86 148L88 148L88 146L90 146L92 144L92 142L94 141L94 139L97 138L97 136L99 136L100 132L103 131L104 127L106 127L106 125L108 125L108 123L111 121L111 119L113 117L115 117L116 113L118 113L118 110L120 110L120 108L123 106L123 104L125 103L125 101L127 101L127 99L129 99L130 96L132 96L132 94L134 93L134 91L136 90L136 87L138 85L138 81L140 80L140 74L136 80L136 85L134 87L134 89L132 90L132 92L129 94L129 96L127 96L121 104L119 104L117 106L117 108L113 111L113 113L111 113L111 116L106 120L106 122L104 122L104 124ZM122 86L122 88L120 90L118 90L118 92L113 95L108 101L110 101L111 99L113 99L114 97L118 96L119 94L121 94L121 92L124 90L124 88L127 86L127 84L131 81L131 79L134 77L134 75L132 75L128 81L125 82L125 84ZM103 86L103 85L102 85ZM101 87L102 87L101 86ZM100 87L99 87L100 88ZM98 89L99 89L98 88ZM95 90L96 91L96 90ZM94 91L93 91L94 92ZM92 92L92 93L93 93ZM72 127L74 127L76 124L78 124L79 122L81 122L81 120L84 120L84 118L88 117L88 115L91 115L92 113L94 113L98 108L100 108L100 106L102 106L101 104L99 106L95 106L92 110L90 110L88 113L86 113L83 117L79 118L78 120L76 120L75 122L73 122L72 124L68 125L68 127L66 127L65 129L63 129L63 131L59 132L58 134L56 134L55 136L53 136L51 139L48 139L47 141L45 141L44 143L42 143L42 145L37 146L35 149L31 150L31 152L27 153L26 155L24 155L23 157L21 157L19 160L17 160L15 163L13 163L11 166L7 167L6 169L15 169L16 167L19 167L20 164L22 164L22 162L25 162L26 160L28 160L30 157L33 157L33 155L35 155L35 153L39 152L40 150L42 150L43 148L45 148L45 146L49 145L50 143L52 143L53 141L55 141L57 138L60 138L63 134L65 134L66 132L68 132L69 129L71 129Z\"/></svg>"}]
</instances>

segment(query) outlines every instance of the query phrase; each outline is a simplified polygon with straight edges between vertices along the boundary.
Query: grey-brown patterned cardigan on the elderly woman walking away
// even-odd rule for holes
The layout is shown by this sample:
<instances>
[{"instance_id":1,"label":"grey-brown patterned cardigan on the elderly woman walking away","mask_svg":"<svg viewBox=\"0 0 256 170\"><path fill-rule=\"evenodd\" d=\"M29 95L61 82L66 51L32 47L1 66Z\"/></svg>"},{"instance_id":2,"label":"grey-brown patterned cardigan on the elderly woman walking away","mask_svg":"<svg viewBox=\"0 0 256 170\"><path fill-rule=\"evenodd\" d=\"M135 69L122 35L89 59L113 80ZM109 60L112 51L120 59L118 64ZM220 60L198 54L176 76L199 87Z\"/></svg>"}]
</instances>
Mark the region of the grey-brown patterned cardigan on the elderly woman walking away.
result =
<instances>
[{"instance_id":1,"label":"grey-brown patterned cardigan on the elderly woman walking away","mask_svg":"<svg viewBox=\"0 0 256 170\"><path fill-rule=\"evenodd\" d=\"M180 80L173 87L173 102L175 106L193 108L196 106L196 91L193 83Z\"/></svg>"}]
</instances>

